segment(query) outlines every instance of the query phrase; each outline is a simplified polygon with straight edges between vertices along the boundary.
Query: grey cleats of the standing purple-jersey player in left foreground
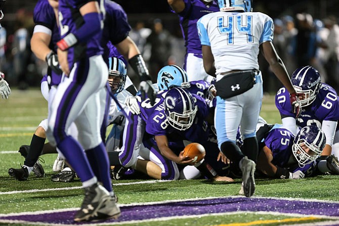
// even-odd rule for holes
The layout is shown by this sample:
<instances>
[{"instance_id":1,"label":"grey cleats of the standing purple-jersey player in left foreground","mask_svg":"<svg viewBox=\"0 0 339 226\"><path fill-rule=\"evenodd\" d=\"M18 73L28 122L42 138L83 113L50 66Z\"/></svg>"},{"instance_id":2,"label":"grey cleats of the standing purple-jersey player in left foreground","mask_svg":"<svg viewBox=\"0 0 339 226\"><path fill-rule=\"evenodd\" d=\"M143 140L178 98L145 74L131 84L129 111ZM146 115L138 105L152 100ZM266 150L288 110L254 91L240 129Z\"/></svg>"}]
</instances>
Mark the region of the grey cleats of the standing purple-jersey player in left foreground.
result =
<instances>
[{"instance_id":1,"label":"grey cleats of the standing purple-jersey player in left foreground","mask_svg":"<svg viewBox=\"0 0 339 226\"><path fill-rule=\"evenodd\" d=\"M107 190L98 183L84 188L84 199L80 210L76 212L74 221L91 221L118 218L120 208L115 204Z\"/></svg>"}]
</instances>

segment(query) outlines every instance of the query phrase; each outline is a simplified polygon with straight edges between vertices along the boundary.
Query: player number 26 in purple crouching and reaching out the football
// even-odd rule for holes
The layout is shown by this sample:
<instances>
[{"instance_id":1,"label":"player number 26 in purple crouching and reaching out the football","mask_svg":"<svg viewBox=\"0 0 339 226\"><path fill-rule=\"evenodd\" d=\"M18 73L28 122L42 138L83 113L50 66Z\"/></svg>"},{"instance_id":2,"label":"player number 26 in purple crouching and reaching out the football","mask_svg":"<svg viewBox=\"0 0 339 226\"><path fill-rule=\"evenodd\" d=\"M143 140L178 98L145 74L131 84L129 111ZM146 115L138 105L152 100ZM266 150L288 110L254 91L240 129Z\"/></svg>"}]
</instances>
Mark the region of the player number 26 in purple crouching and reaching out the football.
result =
<instances>
[{"instance_id":1,"label":"player number 26 in purple crouching and reaching out the football","mask_svg":"<svg viewBox=\"0 0 339 226\"><path fill-rule=\"evenodd\" d=\"M204 121L208 107L204 99L184 88L174 87L160 91L154 106L148 100L138 103L141 113L131 115L132 121L125 124L119 154L122 166L132 166L157 179L178 179L177 164L196 164L208 178L232 180L219 177L205 162L193 163L182 155L183 140L202 144L208 139ZM138 155L143 159L138 159ZM150 168L152 162L158 167Z\"/></svg>"}]
</instances>

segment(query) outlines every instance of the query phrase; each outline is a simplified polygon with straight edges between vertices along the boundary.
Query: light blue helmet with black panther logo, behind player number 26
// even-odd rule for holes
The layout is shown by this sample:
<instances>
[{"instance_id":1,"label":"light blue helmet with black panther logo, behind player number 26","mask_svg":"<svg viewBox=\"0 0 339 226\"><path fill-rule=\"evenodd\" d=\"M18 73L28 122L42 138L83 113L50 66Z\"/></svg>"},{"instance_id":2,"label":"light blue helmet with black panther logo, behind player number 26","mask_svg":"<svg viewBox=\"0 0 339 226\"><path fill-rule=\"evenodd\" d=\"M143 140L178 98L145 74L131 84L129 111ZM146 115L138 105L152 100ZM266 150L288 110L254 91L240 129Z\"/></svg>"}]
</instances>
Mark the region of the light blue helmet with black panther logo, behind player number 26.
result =
<instances>
[{"instance_id":1,"label":"light blue helmet with black panther logo, behind player number 26","mask_svg":"<svg viewBox=\"0 0 339 226\"><path fill-rule=\"evenodd\" d=\"M181 86L181 83L187 82L186 71L178 65L166 65L158 72L156 84L160 90L170 89L171 86Z\"/></svg>"}]
</instances>

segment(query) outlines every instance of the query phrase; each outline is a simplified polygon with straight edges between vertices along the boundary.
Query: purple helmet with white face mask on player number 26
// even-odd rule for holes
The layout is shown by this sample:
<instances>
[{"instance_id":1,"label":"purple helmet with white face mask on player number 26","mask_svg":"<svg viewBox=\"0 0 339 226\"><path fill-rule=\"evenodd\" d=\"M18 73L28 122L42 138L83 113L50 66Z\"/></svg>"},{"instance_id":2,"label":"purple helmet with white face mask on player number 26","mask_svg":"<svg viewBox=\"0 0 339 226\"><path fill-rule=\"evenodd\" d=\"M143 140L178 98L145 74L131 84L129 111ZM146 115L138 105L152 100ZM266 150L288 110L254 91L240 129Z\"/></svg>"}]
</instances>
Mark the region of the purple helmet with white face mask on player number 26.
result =
<instances>
[{"instance_id":1,"label":"purple helmet with white face mask on player number 26","mask_svg":"<svg viewBox=\"0 0 339 226\"><path fill-rule=\"evenodd\" d=\"M185 88L171 88L165 96L164 107L168 123L179 130L192 126L198 106Z\"/></svg>"}]
</instances>

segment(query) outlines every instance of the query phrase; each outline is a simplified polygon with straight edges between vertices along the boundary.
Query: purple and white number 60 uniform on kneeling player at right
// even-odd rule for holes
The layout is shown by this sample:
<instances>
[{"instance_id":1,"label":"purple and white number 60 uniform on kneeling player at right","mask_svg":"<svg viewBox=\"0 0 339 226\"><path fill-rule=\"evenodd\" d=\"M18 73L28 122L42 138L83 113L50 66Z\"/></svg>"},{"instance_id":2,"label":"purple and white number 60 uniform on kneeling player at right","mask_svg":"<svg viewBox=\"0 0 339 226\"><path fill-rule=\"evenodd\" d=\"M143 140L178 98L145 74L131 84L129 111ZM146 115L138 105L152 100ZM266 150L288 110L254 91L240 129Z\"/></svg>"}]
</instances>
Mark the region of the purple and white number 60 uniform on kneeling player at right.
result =
<instances>
[{"instance_id":1,"label":"purple and white number 60 uniform on kneeling player at right","mask_svg":"<svg viewBox=\"0 0 339 226\"><path fill-rule=\"evenodd\" d=\"M302 128L315 124L323 130L326 136L326 144L339 142L339 100L334 89L326 83L322 83L319 93L314 102L306 107L299 118L295 119L289 102L289 93L285 87L279 89L275 96L275 105L278 108L283 126L292 133L297 133L296 127ZM292 123L289 122L292 121Z\"/></svg>"}]
</instances>

